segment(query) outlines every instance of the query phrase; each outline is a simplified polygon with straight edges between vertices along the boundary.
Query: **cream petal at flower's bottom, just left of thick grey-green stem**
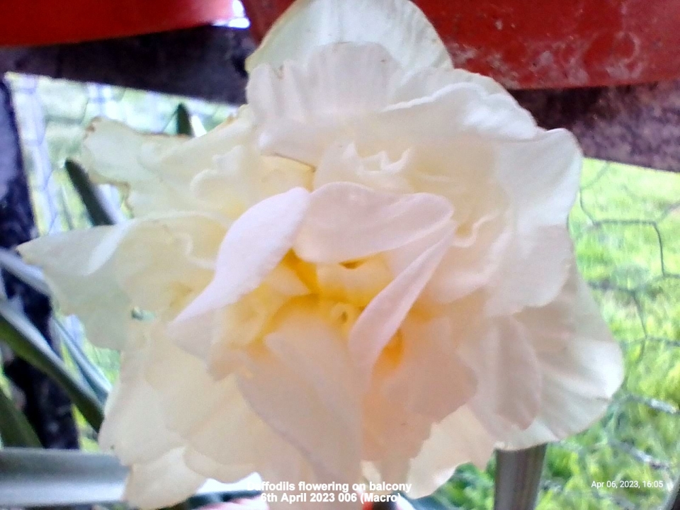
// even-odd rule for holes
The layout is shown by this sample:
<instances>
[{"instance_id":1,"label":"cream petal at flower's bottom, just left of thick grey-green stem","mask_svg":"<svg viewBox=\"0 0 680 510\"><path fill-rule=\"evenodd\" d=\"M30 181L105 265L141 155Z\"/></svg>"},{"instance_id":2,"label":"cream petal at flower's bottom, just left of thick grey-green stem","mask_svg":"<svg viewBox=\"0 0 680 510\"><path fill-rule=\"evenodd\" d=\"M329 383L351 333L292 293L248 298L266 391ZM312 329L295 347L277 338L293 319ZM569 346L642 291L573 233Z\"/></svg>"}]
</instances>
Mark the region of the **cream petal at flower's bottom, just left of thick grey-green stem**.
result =
<instances>
[{"instance_id":1,"label":"cream petal at flower's bottom, just left of thick grey-green stem","mask_svg":"<svg viewBox=\"0 0 680 510\"><path fill-rule=\"evenodd\" d=\"M412 498L424 497L444 485L460 464L484 467L494 452L495 439L469 407L460 407L433 425L430 437L411 461L408 483Z\"/></svg>"}]
</instances>

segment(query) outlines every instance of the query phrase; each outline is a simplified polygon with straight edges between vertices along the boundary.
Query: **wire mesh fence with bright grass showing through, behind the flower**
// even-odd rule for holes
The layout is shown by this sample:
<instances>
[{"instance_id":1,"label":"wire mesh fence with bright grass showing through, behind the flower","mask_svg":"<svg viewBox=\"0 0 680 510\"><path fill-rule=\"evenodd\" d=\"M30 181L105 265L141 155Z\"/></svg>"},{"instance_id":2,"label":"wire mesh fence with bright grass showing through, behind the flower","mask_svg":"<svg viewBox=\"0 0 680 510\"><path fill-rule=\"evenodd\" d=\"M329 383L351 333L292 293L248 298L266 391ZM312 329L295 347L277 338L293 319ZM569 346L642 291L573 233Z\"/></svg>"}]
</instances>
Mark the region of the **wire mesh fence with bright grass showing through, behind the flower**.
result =
<instances>
[{"instance_id":1,"label":"wire mesh fence with bright grass showing through, behind the flower","mask_svg":"<svg viewBox=\"0 0 680 510\"><path fill-rule=\"evenodd\" d=\"M174 132L180 102L208 129L235 109L111 86L9 80L40 234L89 226L63 163L78 153L92 118ZM550 446L538 508L658 509L680 475L680 176L587 160L570 232L579 269L625 353L626 375L604 419ZM69 328L80 331L74 319ZM115 378L117 356L84 344ZM490 509L493 475L493 463L484 471L462 466L436 497Z\"/></svg>"}]
</instances>

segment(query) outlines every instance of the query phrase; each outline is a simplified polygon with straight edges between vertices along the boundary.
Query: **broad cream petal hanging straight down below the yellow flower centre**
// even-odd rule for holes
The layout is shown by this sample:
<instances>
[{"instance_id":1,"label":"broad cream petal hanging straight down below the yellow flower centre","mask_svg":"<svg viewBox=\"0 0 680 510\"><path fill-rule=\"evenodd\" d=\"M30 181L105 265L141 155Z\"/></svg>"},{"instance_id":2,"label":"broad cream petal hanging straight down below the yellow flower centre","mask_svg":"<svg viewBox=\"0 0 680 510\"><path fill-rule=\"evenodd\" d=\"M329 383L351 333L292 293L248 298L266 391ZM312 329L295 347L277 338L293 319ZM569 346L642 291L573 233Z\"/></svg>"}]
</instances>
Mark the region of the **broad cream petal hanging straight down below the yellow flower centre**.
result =
<instances>
[{"instance_id":1,"label":"broad cream petal hanging straight down below the yellow flower centre","mask_svg":"<svg viewBox=\"0 0 680 510\"><path fill-rule=\"evenodd\" d=\"M240 387L314 470L352 482L361 460L358 387L346 340L314 303L301 298L280 312L282 322L265 344L249 351Z\"/></svg>"}]
</instances>

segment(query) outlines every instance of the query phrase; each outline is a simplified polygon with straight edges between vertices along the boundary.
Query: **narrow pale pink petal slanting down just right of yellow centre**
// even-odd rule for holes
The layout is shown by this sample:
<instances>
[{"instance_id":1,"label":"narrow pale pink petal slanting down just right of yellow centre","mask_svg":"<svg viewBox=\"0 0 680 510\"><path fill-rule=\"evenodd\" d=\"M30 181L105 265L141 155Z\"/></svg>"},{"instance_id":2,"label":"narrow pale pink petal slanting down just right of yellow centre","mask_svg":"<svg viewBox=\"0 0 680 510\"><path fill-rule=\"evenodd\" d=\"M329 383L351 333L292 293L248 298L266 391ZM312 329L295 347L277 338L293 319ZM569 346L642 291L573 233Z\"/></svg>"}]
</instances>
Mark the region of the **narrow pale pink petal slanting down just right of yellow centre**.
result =
<instances>
[{"instance_id":1,"label":"narrow pale pink petal slanting down just right of yellow centre","mask_svg":"<svg viewBox=\"0 0 680 510\"><path fill-rule=\"evenodd\" d=\"M397 333L404 318L441 262L453 229L440 227L433 243L365 307L349 336L349 350L361 377L370 375L381 351Z\"/></svg>"}]
</instances>

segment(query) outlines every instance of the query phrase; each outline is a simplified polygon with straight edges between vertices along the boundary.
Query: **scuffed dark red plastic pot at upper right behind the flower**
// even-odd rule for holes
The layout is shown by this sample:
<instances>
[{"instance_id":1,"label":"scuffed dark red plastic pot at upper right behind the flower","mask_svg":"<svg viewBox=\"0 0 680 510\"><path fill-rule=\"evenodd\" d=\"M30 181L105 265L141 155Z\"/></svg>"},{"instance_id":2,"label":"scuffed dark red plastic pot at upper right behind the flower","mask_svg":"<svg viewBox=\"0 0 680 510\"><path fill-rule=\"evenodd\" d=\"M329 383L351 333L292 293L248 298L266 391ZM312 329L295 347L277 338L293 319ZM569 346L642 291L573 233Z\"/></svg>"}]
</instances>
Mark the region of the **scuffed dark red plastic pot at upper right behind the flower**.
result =
<instances>
[{"instance_id":1,"label":"scuffed dark red plastic pot at upper right behind the flower","mask_svg":"<svg viewBox=\"0 0 680 510\"><path fill-rule=\"evenodd\" d=\"M416 0L457 67L510 89L680 77L676 0ZM261 38L292 0L244 0Z\"/></svg>"}]
</instances>

